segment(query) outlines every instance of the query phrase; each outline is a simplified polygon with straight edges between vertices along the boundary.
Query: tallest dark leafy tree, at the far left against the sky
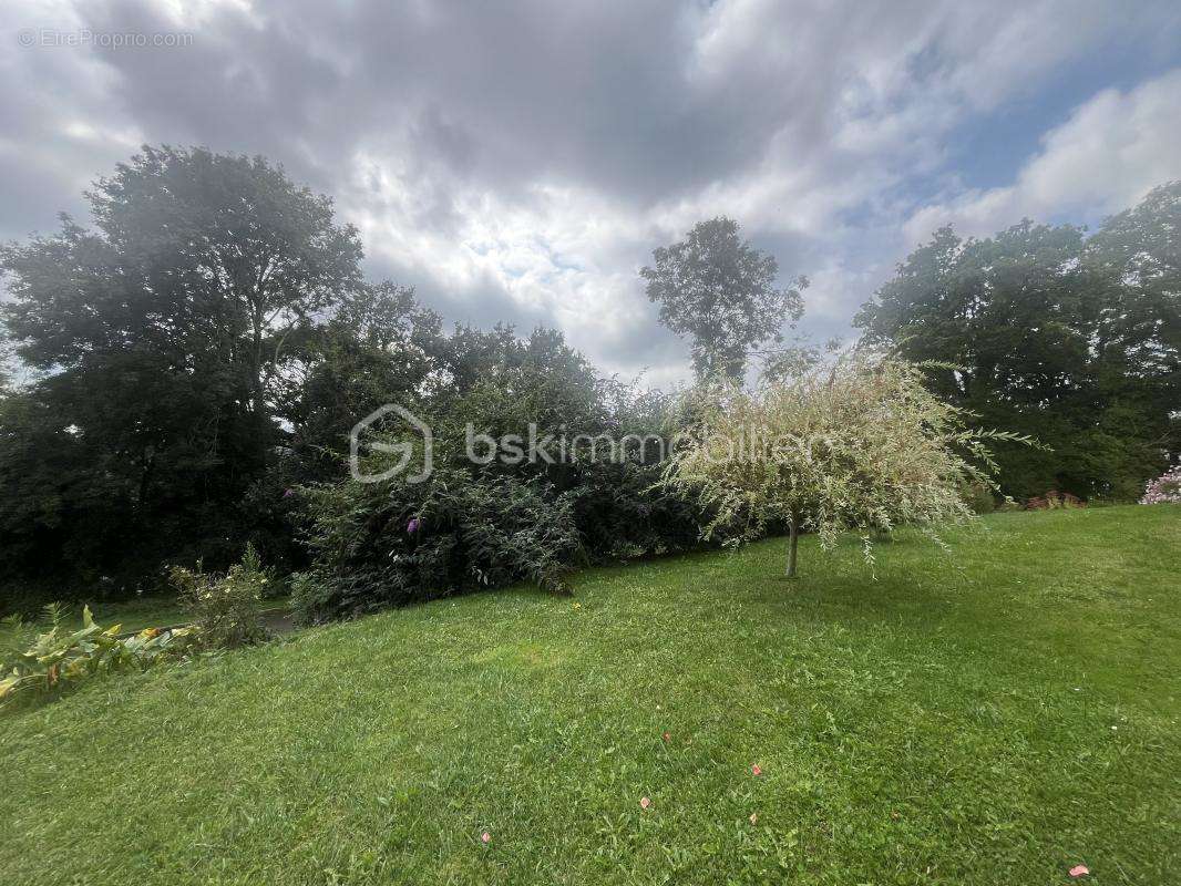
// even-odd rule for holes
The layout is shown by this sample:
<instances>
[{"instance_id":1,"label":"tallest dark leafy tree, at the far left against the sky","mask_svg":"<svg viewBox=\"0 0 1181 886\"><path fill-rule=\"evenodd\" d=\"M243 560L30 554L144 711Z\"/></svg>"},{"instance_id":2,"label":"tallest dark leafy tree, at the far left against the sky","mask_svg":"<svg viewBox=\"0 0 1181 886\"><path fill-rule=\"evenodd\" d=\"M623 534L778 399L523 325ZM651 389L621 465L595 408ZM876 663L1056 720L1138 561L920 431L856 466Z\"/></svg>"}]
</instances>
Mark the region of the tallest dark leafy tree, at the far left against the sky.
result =
<instances>
[{"instance_id":1,"label":"tallest dark leafy tree, at the far left against the sky","mask_svg":"<svg viewBox=\"0 0 1181 886\"><path fill-rule=\"evenodd\" d=\"M8 437L0 474L77 468L40 499L31 563L78 547L64 508L94 500L125 541L72 567L185 547L236 559L243 493L285 437L291 345L363 287L357 233L281 168L204 149L144 148L87 198L93 228L63 216L57 235L0 247L6 330L40 373L19 410L35 432Z\"/></svg>"}]
</instances>

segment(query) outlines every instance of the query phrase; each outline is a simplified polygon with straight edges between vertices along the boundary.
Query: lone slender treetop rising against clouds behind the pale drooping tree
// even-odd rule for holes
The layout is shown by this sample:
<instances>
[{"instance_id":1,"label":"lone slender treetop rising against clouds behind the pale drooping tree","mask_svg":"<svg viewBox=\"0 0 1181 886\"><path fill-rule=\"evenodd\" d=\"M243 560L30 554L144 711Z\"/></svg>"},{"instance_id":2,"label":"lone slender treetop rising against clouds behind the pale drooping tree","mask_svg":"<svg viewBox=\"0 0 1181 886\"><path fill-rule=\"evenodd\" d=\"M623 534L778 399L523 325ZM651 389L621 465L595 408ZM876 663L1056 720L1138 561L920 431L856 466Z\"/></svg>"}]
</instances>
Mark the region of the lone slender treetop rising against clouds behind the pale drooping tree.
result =
<instances>
[{"instance_id":1,"label":"lone slender treetop rising against clouds behind the pale drooping tree","mask_svg":"<svg viewBox=\"0 0 1181 886\"><path fill-rule=\"evenodd\" d=\"M652 253L640 271L660 320L690 337L698 379L739 379L750 352L781 341L784 321L803 315L805 278L777 288L779 266L738 236L738 223L719 216L698 223L685 240Z\"/></svg>"}]
</instances>

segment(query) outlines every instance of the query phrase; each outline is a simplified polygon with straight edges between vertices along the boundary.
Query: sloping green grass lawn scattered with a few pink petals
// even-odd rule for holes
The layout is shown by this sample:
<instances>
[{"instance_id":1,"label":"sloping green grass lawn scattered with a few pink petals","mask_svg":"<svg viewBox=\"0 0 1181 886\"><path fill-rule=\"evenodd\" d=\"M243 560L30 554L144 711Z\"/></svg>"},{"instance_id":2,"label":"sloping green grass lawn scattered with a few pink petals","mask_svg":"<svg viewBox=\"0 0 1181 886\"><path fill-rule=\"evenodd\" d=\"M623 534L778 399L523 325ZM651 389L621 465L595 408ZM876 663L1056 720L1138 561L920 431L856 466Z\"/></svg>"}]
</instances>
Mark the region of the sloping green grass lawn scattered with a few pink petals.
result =
<instances>
[{"instance_id":1,"label":"sloping green grass lawn scattered with a few pink petals","mask_svg":"<svg viewBox=\"0 0 1181 886\"><path fill-rule=\"evenodd\" d=\"M0 717L0 884L1181 882L1181 508L950 541L594 569Z\"/></svg>"}]
</instances>

